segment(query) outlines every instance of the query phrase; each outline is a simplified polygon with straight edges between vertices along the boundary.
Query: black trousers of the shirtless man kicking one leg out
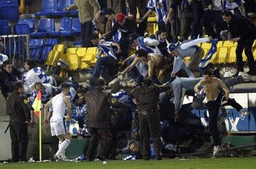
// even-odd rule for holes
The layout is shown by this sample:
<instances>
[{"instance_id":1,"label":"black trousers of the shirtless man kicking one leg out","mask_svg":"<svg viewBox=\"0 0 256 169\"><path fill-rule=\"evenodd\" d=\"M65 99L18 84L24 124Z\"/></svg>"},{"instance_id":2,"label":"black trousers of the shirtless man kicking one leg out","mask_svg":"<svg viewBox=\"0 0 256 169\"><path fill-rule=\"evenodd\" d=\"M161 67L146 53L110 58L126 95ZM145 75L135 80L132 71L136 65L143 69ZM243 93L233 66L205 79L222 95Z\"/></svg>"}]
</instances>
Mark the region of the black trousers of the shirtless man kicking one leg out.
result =
<instances>
[{"instance_id":1,"label":"black trousers of the shirtless man kicking one leg out","mask_svg":"<svg viewBox=\"0 0 256 169\"><path fill-rule=\"evenodd\" d=\"M210 116L210 122L209 122L210 134L213 136L214 146L220 145L220 138L219 138L220 136L218 133L217 122L218 122L218 110L220 108L221 100L223 97L225 96L219 93L215 101L210 101L206 103L206 106L208 107L208 111L209 111L209 116ZM242 106L238 104L235 101L235 99L228 98L227 101L228 102L225 103L224 105L231 105L238 111L242 109Z\"/></svg>"}]
</instances>

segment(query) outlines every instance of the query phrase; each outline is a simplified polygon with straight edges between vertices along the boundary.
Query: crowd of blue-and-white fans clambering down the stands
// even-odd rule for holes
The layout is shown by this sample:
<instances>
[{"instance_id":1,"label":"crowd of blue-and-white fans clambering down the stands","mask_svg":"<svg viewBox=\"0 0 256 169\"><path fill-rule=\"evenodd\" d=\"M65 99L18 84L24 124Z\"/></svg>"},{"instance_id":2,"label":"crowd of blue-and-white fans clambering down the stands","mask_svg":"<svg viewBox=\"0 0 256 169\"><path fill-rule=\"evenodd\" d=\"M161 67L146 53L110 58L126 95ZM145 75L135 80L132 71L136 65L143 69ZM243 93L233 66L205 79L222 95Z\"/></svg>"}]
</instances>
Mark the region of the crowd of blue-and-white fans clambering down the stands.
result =
<instances>
[{"instance_id":1,"label":"crowd of blue-and-white fans clambering down the stands","mask_svg":"<svg viewBox=\"0 0 256 169\"><path fill-rule=\"evenodd\" d=\"M2 57L1 93L4 98L8 98L12 92L11 84L22 81L28 105L33 104L39 91L42 91L42 103L46 104L60 91L63 83L68 83L68 95L72 105L71 122L78 122L79 137L88 137L90 129L87 126L86 95L94 89L95 81L103 78L112 97L125 105L112 105L110 112L106 112L107 128L111 133L107 158L128 160L143 156L139 151L142 146L139 144L142 143L139 141L142 139L139 137L141 126L138 124L137 102L132 89L144 85L145 79L152 82L149 86L169 86L169 91L162 92L159 100L154 100L159 103L157 115L161 124L161 154L177 152L177 143L182 144L190 139L197 144L193 144L186 151L198 151L204 145L203 138L198 139L196 136L198 131L203 131L200 119L191 114L192 109L206 108L202 94L197 93L201 95L198 97L193 91L193 86L201 80L202 71L198 66L205 55L203 49L197 45L201 42L214 43L222 40L222 30L228 30L231 34L230 40L238 42L238 72L227 80L220 76L217 69L214 76L221 78L230 87L251 81L256 75L251 50L256 39L256 28L252 23L256 13L253 0L128 0L128 4L122 0L107 1L107 4L97 0L75 0L75 4L64 10L75 9L78 9L82 23L82 46L98 48L97 62L88 81L78 83L78 79L70 72L68 76L60 76L60 69L63 69L61 60L54 73L49 74L43 66L40 67L31 60L24 63L23 69L16 69L8 58ZM158 18L158 30L149 36L146 33L147 18L153 11ZM208 37L203 37L205 34ZM243 72L243 49L250 68L247 74ZM129 55L131 50L135 50L135 53ZM191 57L191 60L184 62L184 57ZM119 61L122 61L122 65ZM122 88L117 76L123 76L119 75L127 75L124 81L134 83L129 88ZM182 105L184 95L194 96L193 103ZM33 124L33 117L29 123ZM157 153L159 152L151 144L149 158L160 159ZM91 156L90 160L96 158Z\"/></svg>"}]
</instances>

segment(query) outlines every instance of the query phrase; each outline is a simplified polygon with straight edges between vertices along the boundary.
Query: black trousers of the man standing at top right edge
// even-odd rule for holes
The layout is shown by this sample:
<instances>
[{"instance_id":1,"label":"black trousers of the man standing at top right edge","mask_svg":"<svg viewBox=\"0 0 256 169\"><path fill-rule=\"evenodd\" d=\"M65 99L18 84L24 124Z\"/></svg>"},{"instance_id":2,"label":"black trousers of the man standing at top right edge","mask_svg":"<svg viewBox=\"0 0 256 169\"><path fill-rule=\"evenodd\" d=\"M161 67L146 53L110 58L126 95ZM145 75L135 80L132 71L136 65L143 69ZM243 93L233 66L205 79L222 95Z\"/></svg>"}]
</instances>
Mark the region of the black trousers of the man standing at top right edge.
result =
<instances>
[{"instance_id":1,"label":"black trousers of the man standing at top right edge","mask_svg":"<svg viewBox=\"0 0 256 169\"><path fill-rule=\"evenodd\" d=\"M256 74L256 68L255 68L255 60L252 55L252 45L254 42L253 37L247 38L243 42L238 42L238 46L235 49L235 54L236 54L236 64L238 66L238 72L239 71L244 71L243 68L243 62L242 62L242 51L245 49L245 55L247 57L247 64L250 68L250 71L254 72Z\"/></svg>"}]
</instances>

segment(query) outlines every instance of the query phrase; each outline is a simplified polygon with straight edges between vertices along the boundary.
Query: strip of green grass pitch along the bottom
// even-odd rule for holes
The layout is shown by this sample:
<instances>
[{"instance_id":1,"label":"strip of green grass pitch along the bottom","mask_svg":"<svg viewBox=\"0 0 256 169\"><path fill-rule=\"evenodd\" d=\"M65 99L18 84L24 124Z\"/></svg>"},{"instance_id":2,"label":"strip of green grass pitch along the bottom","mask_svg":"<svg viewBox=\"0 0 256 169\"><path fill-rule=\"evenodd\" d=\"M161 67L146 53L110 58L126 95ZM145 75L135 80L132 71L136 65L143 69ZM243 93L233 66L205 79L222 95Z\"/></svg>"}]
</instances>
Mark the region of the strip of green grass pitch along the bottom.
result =
<instances>
[{"instance_id":1,"label":"strip of green grass pitch along the bottom","mask_svg":"<svg viewBox=\"0 0 256 169\"><path fill-rule=\"evenodd\" d=\"M256 158L181 158L163 161L102 161L92 162L51 162L51 163L5 163L0 169L255 169Z\"/></svg>"}]
</instances>

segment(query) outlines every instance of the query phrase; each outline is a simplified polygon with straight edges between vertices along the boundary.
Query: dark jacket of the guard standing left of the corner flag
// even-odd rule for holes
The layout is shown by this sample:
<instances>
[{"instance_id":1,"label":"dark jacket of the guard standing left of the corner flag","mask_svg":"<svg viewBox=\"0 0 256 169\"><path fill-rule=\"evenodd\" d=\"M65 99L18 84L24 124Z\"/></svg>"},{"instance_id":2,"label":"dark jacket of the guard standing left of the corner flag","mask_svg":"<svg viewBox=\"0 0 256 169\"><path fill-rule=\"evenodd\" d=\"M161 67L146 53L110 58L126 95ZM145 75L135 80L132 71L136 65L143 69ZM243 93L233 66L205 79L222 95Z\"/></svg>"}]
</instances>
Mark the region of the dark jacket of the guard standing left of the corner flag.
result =
<instances>
[{"instance_id":1,"label":"dark jacket of the guard standing left of the corner flag","mask_svg":"<svg viewBox=\"0 0 256 169\"><path fill-rule=\"evenodd\" d=\"M6 113L10 115L11 120L17 122L29 122L31 120L28 101L17 91L14 91L14 93L7 98Z\"/></svg>"}]
</instances>

